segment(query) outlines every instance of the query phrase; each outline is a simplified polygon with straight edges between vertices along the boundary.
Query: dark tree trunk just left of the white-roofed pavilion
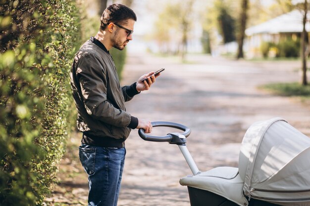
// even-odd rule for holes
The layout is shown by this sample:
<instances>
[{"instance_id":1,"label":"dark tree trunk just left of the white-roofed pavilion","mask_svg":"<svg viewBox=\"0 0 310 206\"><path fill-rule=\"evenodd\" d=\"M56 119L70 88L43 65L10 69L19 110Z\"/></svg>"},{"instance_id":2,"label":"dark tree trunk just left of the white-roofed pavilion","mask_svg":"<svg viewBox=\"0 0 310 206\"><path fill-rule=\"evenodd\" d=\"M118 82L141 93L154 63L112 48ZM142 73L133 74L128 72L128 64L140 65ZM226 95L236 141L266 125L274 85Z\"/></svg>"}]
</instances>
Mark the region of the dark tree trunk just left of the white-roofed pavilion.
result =
<instances>
[{"instance_id":1,"label":"dark tree trunk just left of the white-roofed pavilion","mask_svg":"<svg viewBox=\"0 0 310 206\"><path fill-rule=\"evenodd\" d=\"M249 7L249 0L242 0L241 4L241 17L240 17L240 30L238 35L238 54L237 59L243 58L243 40L245 37L246 25L247 25L247 11Z\"/></svg>"}]
</instances>

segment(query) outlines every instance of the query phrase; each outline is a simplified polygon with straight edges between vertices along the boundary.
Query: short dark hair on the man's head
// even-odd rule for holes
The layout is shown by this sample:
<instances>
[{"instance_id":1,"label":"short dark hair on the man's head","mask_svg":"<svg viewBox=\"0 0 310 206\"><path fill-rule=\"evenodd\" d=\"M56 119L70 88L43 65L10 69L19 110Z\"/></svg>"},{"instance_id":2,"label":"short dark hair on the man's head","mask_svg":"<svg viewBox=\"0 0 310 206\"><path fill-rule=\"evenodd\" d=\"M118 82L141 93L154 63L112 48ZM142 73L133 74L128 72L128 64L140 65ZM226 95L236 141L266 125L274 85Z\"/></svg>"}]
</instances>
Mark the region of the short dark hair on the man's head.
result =
<instances>
[{"instance_id":1,"label":"short dark hair on the man's head","mask_svg":"<svg viewBox=\"0 0 310 206\"><path fill-rule=\"evenodd\" d=\"M128 19L137 21L137 16L135 12L131 8L123 4L113 3L103 11L103 14L101 16L100 29L104 30L106 25L111 22L116 24L123 24Z\"/></svg>"}]
</instances>

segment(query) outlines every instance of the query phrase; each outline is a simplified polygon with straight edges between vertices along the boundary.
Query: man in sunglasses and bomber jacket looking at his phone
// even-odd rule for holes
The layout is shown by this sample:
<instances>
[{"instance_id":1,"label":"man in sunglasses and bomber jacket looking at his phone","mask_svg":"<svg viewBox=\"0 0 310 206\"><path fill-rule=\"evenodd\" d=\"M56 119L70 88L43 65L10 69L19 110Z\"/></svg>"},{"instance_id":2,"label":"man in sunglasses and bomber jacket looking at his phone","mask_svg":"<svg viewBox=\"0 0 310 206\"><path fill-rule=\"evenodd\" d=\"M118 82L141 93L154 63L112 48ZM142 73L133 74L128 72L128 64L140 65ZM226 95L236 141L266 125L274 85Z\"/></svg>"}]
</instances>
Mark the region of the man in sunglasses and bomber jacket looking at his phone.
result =
<instances>
[{"instance_id":1,"label":"man in sunglasses and bomber jacket looking at his phone","mask_svg":"<svg viewBox=\"0 0 310 206\"><path fill-rule=\"evenodd\" d=\"M78 110L77 127L83 132L79 148L88 174L89 206L116 206L130 130L152 125L126 112L124 103L155 82L151 72L130 86L121 87L108 50L123 50L132 40L136 14L125 5L108 6L101 17L100 31L77 52L71 70L71 86ZM151 76L151 77L149 77ZM149 77L147 81L142 79Z\"/></svg>"}]
</instances>

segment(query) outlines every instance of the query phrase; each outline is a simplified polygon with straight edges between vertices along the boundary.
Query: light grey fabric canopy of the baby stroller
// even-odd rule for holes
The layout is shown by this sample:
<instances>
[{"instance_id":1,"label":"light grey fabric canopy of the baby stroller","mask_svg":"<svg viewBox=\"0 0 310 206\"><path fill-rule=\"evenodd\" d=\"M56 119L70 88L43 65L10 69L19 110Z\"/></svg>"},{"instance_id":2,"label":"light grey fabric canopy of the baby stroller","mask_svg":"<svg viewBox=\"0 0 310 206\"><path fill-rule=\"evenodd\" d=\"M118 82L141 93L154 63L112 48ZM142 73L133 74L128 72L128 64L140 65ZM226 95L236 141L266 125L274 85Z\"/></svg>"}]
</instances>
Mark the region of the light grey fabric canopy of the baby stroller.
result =
<instances>
[{"instance_id":1,"label":"light grey fabric canopy of the baby stroller","mask_svg":"<svg viewBox=\"0 0 310 206\"><path fill-rule=\"evenodd\" d=\"M281 118L247 130L239 154L244 194L283 206L310 206L310 138Z\"/></svg>"}]
</instances>

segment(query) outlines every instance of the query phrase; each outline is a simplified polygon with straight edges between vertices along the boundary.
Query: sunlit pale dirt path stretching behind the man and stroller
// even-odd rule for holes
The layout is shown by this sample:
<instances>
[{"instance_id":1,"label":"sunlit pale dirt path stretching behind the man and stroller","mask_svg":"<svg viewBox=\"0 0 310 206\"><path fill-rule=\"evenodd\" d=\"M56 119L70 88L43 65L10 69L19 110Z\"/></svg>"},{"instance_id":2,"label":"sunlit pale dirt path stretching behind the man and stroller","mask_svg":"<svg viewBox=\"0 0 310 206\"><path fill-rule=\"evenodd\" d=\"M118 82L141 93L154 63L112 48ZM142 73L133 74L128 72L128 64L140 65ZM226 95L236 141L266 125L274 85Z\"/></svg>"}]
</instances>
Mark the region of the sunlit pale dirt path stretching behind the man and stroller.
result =
<instances>
[{"instance_id":1,"label":"sunlit pale dirt path stretching behind the man and stroller","mask_svg":"<svg viewBox=\"0 0 310 206\"><path fill-rule=\"evenodd\" d=\"M122 84L166 68L151 90L127 103L127 111L138 118L190 127L187 146L200 170L238 166L241 140L256 121L282 117L310 136L309 107L296 98L272 96L257 89L267 82L299 81L299 61L234 61L203 55L188 56L187 60L189 63L180 64L177 59L131 55ZM168 132L168 128L155 128L153 134ZM79 140L79 134L73 136L72 145L78 145ZM55 206L57 200L58 205L87 202L87 177L74 149L63 161L67 168L60 170L75 172L71 176L68 171L62 171L62 176L60 172L60 186L48 199ZM177 146L146 142L133 130L126 149L119 206L190 206L187 188L179 185L179 179L191 171Z\"/></svg>"}]
</instances>

